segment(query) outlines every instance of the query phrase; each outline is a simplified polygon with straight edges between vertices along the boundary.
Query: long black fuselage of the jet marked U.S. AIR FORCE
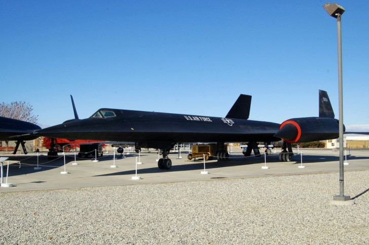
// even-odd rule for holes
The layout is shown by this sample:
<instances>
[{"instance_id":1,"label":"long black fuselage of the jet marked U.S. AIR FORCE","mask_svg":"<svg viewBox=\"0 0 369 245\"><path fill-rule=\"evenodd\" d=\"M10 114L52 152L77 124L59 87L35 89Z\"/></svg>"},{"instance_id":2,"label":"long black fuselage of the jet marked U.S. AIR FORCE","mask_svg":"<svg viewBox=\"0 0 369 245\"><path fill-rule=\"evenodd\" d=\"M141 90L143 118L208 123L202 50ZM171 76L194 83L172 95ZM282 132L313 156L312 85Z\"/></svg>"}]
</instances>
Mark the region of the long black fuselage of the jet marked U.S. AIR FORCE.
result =
<instances>
[{"instance_id":1,"label":"long black fuselage of the jet marked U.S. AIR FORCE","mask_svg":"<svg viewBox=\"0 0 369 245\"><path fill-rule=\"evenodd\" d=\"M280 140L273 136L280 124L272 122L119 109L100 109L96 113L99 112L113 112L115 116L71 120L38 133L49 137L138 142L151 147L164 143Z\"/></svg>"}]
</instances>

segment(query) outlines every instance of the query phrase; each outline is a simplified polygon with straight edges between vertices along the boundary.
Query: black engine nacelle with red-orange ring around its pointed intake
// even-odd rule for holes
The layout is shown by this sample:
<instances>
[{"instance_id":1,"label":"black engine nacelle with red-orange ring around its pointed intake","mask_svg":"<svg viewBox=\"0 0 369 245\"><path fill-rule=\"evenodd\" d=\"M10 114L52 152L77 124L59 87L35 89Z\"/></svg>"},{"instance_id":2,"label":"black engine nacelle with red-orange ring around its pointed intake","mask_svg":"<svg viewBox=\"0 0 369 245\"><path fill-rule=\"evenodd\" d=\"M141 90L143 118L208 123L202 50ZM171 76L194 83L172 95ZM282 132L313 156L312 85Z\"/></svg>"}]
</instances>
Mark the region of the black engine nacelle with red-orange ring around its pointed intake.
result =
<instances>
[{"instance_id":1,"label":"black engine nacelle with red-orange ring around its pointed intake","mask_svg":"<svg viewBox=\"0 0 369 245\"><path fill-rule=\"evenodd\" d=\"M284 121L274 136L287 143L334 139L339 137L339 122L326 117L292 118Z\"/></svg>"}]
</instances>

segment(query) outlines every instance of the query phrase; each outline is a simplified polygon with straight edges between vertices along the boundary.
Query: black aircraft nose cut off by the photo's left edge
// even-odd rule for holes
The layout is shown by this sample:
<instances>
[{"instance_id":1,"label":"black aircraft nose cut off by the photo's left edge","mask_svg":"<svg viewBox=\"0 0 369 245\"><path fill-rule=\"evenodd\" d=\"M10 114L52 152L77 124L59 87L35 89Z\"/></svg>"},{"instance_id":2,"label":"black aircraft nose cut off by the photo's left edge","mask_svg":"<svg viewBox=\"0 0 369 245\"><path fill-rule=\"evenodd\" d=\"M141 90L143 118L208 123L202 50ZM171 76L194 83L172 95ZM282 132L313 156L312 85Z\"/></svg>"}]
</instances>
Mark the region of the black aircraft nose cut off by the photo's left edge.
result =
<instances>
[{"instance_id":1,"label":"black aircraft nose cut off by the photo's left edge","mask_svg":"<svg viewBox=\"0 0 369 245\"><path fill-rule=\"evenodd\" d=\"M39 135L33 134L33 131L39 129L41 129L40 126L30 122L0 117L0 141L16 141L13 154L16 154L19 145L22 146L24 154L27 154L24 141L38 138Z\"/></svg>"}]
</instances>

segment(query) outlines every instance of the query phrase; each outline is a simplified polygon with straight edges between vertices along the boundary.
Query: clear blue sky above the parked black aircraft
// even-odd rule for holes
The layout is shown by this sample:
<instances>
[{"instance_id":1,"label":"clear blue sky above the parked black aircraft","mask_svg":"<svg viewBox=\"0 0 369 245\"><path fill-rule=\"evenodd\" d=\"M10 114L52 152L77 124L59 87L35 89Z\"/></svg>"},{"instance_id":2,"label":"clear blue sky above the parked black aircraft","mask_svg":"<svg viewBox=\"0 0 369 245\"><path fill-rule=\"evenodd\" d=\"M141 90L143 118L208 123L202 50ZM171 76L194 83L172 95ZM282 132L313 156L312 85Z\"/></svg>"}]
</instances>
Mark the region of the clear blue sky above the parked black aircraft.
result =
<instances>
[{"instance_id":1,"label":"clear blue sky above the parked black aircraft","mask_svg":"<svg viewBox=\"0 0 369 245\"><path fill-rule=\"evenodd\" d=\"M2 102L51 126L99 108L225 116L252 95L252 120L338 118L337 21L325 1L0 0ZM369 129L368 1L340 1L344 123ZM359 130L362 130L360 128Z\"/></svg>"}]
</instances>

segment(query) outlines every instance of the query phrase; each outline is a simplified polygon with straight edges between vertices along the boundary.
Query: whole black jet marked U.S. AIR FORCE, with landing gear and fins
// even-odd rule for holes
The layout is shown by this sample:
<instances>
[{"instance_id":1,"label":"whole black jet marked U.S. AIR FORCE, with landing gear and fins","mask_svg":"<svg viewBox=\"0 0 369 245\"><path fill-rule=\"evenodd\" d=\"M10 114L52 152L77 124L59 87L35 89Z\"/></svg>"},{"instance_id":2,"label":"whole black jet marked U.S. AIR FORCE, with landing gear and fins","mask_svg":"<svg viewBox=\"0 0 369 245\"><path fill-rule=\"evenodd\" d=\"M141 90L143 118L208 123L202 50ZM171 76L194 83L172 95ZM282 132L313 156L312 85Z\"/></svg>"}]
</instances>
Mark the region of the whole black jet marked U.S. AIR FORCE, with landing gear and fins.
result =
<instances>
[{"instance_id":1,"label":"whole black jet marked U.S. AIR FORCE, with landing gear and fins","mask_svg":"<svg viewBox=\"0 0 369 245\"><path fill-rule=\"evenodd\" d=\"M281 161L292 158L291 143L338 138L339 124L335 119L328 95L319 90L319 117L292 118L282 124L248 120L251 96L241 94L226 117L195 116L158 112L142 112L103 108L87 119L79 119L72 99L75 119L38 130L48 137L95 139L101 141L135 142L139 148L162 151L160 169L172 165L169 150L177 143L216 142L217 159L229 157L224 144L248 142L246 156L254 151L260 155L256 142L284 141Z\"/></svg>"}]
</instances>

